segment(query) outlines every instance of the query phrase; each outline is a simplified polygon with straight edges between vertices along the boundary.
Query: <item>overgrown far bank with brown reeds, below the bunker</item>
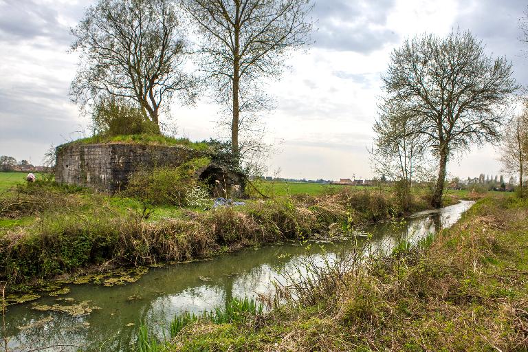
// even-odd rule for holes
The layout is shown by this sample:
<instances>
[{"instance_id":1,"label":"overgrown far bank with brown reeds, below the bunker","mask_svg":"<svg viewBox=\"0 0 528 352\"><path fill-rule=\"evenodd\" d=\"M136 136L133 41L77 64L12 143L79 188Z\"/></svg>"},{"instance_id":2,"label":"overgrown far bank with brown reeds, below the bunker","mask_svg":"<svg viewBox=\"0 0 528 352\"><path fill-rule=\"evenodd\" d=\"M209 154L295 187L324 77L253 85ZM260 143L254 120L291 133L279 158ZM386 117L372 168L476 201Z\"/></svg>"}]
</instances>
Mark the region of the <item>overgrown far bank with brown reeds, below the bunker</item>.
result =
<instances>
[{"instance_id":1,"label":"overgrown far bank with brown reeds, below the bunker","mask_svg":"<svg viewBox=\"0 0 528 352\"><path fill-rule=\"evenodd\" d=\"M10 291L36 279L76 280L115 267L347 235L366 223L405 215L396 204L387 190L343 188L214 210L160 206L146 217L142 204L128 197L45 182L18 186L0 199L0 281L8 282ZM426 208L423 195L415 195L410 212Z\"/></svg>"}]
</instances>

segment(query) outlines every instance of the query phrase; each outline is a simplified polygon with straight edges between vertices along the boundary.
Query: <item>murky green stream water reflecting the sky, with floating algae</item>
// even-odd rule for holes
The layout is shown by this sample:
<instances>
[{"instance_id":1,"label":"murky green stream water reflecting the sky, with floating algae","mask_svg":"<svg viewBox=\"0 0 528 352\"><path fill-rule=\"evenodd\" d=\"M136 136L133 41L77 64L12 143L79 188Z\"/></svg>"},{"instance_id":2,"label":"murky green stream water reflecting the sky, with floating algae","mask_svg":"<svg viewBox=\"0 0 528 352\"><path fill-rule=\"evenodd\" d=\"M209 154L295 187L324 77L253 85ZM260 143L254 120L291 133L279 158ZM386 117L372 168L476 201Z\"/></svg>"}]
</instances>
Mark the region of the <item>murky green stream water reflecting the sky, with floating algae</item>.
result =
<instances>
[{"instance_id":1,"label":"murky green stream water reflecting the sky, with floating algae","mask_svg":"<svg viewBox=\"0 0 528 352\"><path fill-rule=\"evenodd\" d=\"M440 210L419 212L406 219L406 225L399 229L391 223L378 223L364 231L373 234L375 247L389 252L399 239L416 243L430 232L450 227L472 204L472 201L461 201ZM100 309L89 316L72 317L61 312L35 311L31 309L34 302L10 306L5 316L10 339L8 351L39 348L43 348L40 351L78 351L80 347L83 351L130 351L140 322L146 322L163 336L175 314L211 310L223 306L232 296L255 297L258 293L270 292L272 283L282 279L279 273L292 270L299 261L351 248L353 240L269 245L210 261L153 268L139 281L128 285L70 285L71 292L62 298L73 298L74 303L91 300L90 305ZM56 297L43 297L36 302L72 304L58 302ZM37 323L34 327L23 328L34 323ZM3 342L0 346L0 351L5 352Z\"/></svg>"}]
</instances>

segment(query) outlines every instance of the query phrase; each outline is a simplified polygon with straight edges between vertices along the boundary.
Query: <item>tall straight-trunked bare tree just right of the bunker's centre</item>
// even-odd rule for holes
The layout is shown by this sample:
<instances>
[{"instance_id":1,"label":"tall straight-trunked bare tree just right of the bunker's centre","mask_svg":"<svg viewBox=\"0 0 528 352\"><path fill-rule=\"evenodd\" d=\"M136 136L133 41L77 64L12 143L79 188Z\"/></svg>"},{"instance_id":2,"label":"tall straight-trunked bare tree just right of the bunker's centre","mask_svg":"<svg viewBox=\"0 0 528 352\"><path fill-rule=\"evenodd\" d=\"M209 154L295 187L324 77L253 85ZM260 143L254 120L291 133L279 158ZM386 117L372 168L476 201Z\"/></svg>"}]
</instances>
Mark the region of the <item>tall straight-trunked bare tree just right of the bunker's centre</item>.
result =
<instances>
[{"instance_id":1,"label":"tall straight-trunked bare tree just right of the bunker's centre","mask_svg":"<svg viewBox=\"0 0 528 352\"><path fill-rule=\"evenodd\" d=\"M200 66L215 97L228 104L233 155L243 113L269 106L261 80L280 76L285 54L307 43L307 0L183 0L201 34Z\"/></svg>"}]
</instances>

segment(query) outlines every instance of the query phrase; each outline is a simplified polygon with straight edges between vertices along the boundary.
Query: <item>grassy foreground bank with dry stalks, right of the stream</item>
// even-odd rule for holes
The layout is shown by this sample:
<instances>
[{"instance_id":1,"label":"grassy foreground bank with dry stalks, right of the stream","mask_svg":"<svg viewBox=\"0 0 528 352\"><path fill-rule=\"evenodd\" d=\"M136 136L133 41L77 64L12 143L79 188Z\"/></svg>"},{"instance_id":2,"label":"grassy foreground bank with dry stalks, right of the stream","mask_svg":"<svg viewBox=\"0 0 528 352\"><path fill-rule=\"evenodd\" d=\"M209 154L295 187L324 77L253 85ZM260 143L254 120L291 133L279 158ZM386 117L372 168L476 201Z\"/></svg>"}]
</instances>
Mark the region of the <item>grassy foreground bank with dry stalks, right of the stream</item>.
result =
<instances>
[{"instance_id":1,"label":"grassy foreground bank with dry stalks, right of the stream","mask_svg":"<svg viewBox=\"0 0 528 352\"><path fill-rule=\"evenodd\" d=\"M312 269L271 313L194 322L158 351L527 351L527 217L488 196L427 248Z\"/></svg>"}]
</instances>

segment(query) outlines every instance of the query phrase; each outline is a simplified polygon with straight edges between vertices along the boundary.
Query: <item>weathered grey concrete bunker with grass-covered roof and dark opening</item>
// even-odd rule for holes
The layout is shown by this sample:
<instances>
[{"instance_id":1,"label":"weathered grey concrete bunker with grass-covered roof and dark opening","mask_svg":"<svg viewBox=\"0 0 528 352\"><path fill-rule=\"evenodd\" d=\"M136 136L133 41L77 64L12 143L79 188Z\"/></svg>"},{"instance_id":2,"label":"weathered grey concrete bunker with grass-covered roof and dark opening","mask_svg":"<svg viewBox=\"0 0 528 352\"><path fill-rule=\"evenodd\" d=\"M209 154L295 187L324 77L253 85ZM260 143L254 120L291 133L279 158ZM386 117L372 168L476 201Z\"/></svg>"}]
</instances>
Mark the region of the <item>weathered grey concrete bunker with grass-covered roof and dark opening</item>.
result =
<instances>
[{"instance_id":1,"label":"weathered grey concrete bunker with grass-covered roof and dark opening","mask_svg":"<svg viewBox=\"0 0 528 352\"><path fill-rule=\"evenodd\" d=\"M129 176L145 168L180 166L197 157L211 156L187 146L131 143L84 144L73 142L56 149L55 180L61 184L87 186L100 192L124 190ZM243 197L245 178L212 162L196 177L210 186L214 197Z\"/></svg>"}]
</instances>

